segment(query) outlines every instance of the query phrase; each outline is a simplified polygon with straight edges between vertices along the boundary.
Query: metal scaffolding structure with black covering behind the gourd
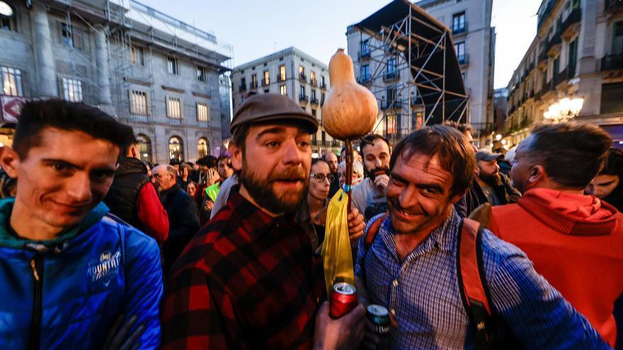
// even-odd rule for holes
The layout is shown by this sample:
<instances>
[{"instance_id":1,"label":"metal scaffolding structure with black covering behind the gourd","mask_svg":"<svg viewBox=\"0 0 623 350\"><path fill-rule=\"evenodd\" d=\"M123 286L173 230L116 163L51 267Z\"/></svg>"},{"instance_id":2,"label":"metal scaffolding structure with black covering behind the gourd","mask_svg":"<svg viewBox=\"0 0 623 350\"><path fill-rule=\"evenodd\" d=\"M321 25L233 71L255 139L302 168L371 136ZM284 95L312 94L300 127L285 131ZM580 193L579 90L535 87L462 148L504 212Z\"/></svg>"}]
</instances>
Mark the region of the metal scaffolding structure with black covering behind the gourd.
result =
<instances>
[{"instance_id":1,"label":"metal scaffolding structure with black covering behind the gourd","mask_svg":"<svg viewBox=\"0 0 623 350\"><path fill-rule=\"evenodd\" d=\"M450 29L407 0L394 0L354 25L360 83L382 115L374 132L398 141L413 129L446 120L469 122L468 98Z\"/></svg>"}]
</instances>

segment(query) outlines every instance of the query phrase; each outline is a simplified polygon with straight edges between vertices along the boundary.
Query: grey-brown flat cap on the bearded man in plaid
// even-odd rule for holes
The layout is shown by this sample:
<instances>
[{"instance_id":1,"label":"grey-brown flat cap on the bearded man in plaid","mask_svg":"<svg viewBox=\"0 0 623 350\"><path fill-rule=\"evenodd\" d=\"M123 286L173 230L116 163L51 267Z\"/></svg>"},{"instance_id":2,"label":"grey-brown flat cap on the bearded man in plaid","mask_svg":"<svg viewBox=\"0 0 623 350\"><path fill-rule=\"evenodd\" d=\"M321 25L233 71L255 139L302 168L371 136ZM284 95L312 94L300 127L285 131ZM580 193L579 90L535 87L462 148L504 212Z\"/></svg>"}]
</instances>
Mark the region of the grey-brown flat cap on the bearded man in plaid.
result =
<instances>
[{"instance_id":1,"label":"grey-brown flat cap on the bearded man in plaid","mask_svg":"<svg viewBox=\"0 0 623 350\"><path fill-rule=\"evenodd\" d=\"M313 115L302 110L295 101L286 95L277 93L263 93L251 95L236 111L229 131L232 135L243 124L265 122L293 121L302 124L310 134L318 130L318 120Z\"/></svg>"}]
</instances>

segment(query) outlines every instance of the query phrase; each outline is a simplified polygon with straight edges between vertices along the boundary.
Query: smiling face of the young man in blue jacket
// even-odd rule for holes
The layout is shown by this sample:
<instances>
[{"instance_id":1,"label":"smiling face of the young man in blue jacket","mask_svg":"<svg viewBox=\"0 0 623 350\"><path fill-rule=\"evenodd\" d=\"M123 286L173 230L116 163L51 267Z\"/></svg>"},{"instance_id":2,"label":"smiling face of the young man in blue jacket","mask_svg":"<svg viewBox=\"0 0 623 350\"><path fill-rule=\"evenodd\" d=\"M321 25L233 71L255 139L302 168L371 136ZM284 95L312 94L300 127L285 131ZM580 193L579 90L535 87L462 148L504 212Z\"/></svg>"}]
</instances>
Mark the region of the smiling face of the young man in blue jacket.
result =
<instances>
[{"instance_id":1,"label":"smiling face of the young man in blue jacket","mask_svg":"<svg viewBox=\"0 0 623 350\"><path fill-rule=\"evenodd\" d=\"M3 168L18 179L11 217L58 233L76 226L101 202L113 182L120 150L79 131L47 127L39 137L40 144L23 159L12 150L3 151Z\"/></svg>"}]
</instances>

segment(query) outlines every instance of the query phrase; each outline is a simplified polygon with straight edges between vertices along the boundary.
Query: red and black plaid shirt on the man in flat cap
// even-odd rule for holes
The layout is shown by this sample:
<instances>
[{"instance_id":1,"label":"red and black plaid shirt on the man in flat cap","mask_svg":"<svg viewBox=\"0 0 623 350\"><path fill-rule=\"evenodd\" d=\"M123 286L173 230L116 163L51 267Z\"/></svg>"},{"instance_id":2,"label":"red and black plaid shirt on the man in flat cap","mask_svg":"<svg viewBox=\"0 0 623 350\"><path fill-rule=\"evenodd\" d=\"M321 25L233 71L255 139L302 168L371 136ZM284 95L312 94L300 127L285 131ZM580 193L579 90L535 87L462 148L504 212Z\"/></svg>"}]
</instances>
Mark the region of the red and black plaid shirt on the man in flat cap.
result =
<instances>
[{"instance_id":1,"label":"red and black plaid shirt on the man in flat cap","mask_svg":"<svg viewBox=\"0 0 623 350\"><path fill-rule=\"evenodd\" d=\"M235 190L173 267L163 349L310 349L321 263L292 218Z\"/></svg>"}]
</instances>

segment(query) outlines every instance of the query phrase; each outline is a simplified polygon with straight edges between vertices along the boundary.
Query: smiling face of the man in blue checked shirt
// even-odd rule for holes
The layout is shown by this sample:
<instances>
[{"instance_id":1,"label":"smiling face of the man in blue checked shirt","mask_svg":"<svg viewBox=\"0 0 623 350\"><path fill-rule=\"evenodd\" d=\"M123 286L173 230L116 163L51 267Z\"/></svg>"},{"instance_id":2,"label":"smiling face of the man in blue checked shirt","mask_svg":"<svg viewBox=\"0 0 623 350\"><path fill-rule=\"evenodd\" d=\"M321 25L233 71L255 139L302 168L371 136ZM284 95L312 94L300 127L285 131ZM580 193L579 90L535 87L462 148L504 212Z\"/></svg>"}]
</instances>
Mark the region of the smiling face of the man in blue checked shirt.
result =
<instances>
[{"instance_id":1,"label":"smiling face of the man in blue checked shirt","mask_svg":"<svg viewBox=\"0 0 623 350\"><path fill-rule=\"evenodd\" d=\"M427 235L450 214L461 195L452 196L454 177L437 155L396 158L387 186L391 224L398 233Z\"/></svg>"}]
</instances>

